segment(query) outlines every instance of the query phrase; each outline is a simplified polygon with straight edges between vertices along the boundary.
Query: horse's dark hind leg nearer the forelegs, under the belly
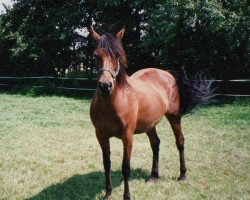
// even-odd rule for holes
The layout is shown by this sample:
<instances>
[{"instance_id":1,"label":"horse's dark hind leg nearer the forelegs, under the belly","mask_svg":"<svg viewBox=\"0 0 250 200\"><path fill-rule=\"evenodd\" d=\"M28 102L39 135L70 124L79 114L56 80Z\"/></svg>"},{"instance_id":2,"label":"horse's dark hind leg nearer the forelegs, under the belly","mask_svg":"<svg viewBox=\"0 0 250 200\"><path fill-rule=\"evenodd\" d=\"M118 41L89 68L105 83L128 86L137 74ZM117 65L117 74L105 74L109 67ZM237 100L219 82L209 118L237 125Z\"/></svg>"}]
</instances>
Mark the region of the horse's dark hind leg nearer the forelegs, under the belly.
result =
<instances>
[{"instance_id":1,"label":"horse's dark hind leg nearer the forelegs, under the belly","mask_svg":"<svg viewBox=\"0 0 250 200\"><path fill-rule=\"evenodd\" d=\"M149 137L150 145L153 151L152 171L151 171L151 175L147 179L147 182L154 182L155 180L159 178L158 162L159 162L160 139L157 135L155 127L146 133Z\"/></svg>"}]
</instances>

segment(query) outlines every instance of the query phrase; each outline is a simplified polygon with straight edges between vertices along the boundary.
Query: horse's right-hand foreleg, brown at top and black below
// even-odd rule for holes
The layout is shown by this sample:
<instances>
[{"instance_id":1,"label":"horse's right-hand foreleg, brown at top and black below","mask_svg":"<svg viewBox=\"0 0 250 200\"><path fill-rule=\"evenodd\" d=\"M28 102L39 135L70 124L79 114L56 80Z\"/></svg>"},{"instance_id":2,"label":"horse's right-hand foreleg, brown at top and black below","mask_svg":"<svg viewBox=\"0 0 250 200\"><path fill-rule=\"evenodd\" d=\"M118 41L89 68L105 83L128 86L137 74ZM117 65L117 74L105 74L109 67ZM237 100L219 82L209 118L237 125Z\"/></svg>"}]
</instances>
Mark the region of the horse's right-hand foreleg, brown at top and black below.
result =
<instances>
[{"instance_id":1,"label":"horse's right-hand foreleg, brown at top and black below","mask_svg":"<svg viewBox=\"0 0 250 200\"><path fill-rule=\"evenodd\" d=\"M123 139L123 161L122 175L124 179L124 200L130 200L129 177L130 177L130 158L133 146L133 135L126 135Z\"/></svg>"}]
</instances>

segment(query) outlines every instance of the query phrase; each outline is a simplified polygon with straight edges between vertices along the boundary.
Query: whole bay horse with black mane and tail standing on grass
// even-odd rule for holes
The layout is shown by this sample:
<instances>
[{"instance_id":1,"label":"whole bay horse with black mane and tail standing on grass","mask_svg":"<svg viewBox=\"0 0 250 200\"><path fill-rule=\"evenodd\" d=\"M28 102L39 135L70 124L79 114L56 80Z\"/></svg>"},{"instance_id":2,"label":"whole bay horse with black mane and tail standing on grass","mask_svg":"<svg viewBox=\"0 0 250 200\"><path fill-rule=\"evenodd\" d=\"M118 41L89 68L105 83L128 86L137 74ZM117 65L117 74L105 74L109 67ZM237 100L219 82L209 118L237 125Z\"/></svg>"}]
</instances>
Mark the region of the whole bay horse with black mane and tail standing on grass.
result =
<instances>
[{"instance_id":1,"label":"whole bay horse with black mane and tail standing on grass","mask_svg":"<svg viewBox=\"0 0 250 200\"><path fill-rule=\"evenodd\" d=\"M129 200L130 158L134 134L146 132L149 137L153 163L151 175L147 181L153 182L159 177L160 139L155 126L165 116L174 132L179 151L178 180L185 180L186 165L181 116L189 105L204 100L208 90L204 88L199 90L191 85L185 85L183 81L177 81L169 72L155 68L140 70L129 77L125 72L127 61L121 42L124 31L123 28L116 36L109 33L100 36L91 28L92 36L97 41L94 56L96 65L99 67L99 75L97 90L90 106L90 118L103 154L105 199L109 199L112 192L109 139L117 137L123 143L123 197ZM185 98L183 94L189 94L187 99L183 100ZM190 94L196 95L196 98Z\"/></svg>"}]
</instances>

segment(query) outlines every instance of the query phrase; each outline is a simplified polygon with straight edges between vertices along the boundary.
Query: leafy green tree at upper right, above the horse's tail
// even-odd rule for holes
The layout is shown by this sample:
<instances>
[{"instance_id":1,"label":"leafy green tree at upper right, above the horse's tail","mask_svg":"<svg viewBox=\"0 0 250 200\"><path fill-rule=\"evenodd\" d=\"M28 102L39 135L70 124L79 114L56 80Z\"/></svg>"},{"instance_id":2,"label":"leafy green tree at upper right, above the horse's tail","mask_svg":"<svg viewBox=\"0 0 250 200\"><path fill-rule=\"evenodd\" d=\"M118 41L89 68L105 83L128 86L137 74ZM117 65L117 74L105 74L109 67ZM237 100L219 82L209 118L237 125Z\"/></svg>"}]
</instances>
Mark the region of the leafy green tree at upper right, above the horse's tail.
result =
<instances>
[{"instance_id":1,"label":"leafy green tree at upper right, above the horse's tail","mask_svg":"<svg viewBox=\"0 0 250 200\"><path fill-rule=\"evenodd\" d=\"M214 77L247 77L247 1L165 0L152 13L143 47L161 63Z\"/></svg>"}]
</instances>

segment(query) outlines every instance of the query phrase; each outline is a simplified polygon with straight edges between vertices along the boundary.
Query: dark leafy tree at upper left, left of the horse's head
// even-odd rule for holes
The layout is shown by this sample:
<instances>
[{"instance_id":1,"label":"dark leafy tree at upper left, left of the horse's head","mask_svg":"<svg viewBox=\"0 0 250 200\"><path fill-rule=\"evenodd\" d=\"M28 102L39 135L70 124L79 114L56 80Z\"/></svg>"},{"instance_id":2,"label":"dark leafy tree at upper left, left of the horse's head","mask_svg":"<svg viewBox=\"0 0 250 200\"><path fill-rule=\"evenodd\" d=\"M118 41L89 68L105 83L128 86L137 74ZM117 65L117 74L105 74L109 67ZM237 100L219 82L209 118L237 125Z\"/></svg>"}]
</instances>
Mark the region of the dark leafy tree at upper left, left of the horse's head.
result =
<instances>
[{"instance_id":1,"label":"dark leafy tree at upper left, left of the horse's head","mask_svg":"<svg viewBox=\"0 0 250 200\"><path fill-rule=\"evenodd\" d=\"M12 69L6 70L21 75L53 75L55 68L64 72L75 59L70 49L74 27L88 26L79 8L73 0L15 1L1 17L2 40L12 42L8 46Z\"/></svg>"}]
</instances>

